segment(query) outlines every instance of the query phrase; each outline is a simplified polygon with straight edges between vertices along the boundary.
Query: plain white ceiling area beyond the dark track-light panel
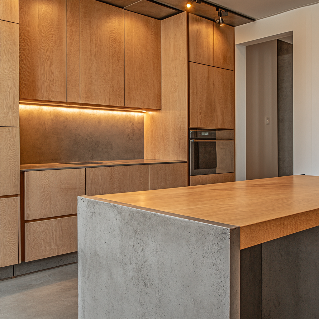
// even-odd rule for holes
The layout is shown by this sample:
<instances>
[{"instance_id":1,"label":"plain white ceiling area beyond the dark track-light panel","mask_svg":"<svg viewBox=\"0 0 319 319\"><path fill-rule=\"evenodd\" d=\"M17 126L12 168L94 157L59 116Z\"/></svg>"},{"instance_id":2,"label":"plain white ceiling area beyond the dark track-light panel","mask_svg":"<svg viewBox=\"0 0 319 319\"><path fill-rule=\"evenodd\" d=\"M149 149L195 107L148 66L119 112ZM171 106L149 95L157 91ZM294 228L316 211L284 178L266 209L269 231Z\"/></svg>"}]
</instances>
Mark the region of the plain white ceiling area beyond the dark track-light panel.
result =
<instances>
[{"instance_id":1,"label":"plain white ceiling area beyond the dark track-light panel","mask_svg":"<svg viewBox=\"0 0 319 319\"><path fill-rule=\"evenodd\" d=\"M221 7L242 13L254 19L262 19L280 12L319 3L314 0L206 0Z\"/></svg>"}]
</instances>

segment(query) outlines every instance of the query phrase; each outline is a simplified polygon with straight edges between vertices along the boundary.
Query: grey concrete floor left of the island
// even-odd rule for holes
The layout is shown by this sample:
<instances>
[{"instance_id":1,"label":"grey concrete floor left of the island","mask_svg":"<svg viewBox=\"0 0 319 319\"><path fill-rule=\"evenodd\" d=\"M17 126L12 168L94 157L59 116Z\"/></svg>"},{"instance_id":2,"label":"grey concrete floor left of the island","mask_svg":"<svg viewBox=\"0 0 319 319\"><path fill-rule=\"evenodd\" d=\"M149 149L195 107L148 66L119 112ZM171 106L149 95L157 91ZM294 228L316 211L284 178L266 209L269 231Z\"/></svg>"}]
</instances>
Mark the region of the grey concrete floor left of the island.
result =
<instances>
[{"instance_id":1,"label":"grey concrete floor left of the island","mask_svg":"<svg viewBox=\"0 0 319 319\"><path fill-rule=\"evenodd\" d=\"M0 318L78 318L78 264L0 281Z\"/></svg>"}]
</instances>

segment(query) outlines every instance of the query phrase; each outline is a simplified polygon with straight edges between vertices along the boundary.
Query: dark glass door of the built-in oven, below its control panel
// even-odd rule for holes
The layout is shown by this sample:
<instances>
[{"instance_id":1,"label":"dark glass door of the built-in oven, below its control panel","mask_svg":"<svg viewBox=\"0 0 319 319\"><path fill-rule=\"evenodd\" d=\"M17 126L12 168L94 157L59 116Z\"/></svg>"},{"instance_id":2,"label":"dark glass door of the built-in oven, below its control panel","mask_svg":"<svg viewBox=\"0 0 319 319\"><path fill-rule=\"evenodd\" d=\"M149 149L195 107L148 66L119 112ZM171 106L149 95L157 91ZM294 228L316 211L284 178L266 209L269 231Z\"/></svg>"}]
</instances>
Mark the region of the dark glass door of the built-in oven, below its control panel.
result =
<instances>
[{"instance_id":1,"label":"dark glass door of the built-in oven, below its control panel","mask_svg":"<svg viewBox=\"0 0 319 319\"><path fill-rule=\"evenodd\" d=\"M233 140L190 140L190 175L234 172Z\"/></svg>"}]
</instances>

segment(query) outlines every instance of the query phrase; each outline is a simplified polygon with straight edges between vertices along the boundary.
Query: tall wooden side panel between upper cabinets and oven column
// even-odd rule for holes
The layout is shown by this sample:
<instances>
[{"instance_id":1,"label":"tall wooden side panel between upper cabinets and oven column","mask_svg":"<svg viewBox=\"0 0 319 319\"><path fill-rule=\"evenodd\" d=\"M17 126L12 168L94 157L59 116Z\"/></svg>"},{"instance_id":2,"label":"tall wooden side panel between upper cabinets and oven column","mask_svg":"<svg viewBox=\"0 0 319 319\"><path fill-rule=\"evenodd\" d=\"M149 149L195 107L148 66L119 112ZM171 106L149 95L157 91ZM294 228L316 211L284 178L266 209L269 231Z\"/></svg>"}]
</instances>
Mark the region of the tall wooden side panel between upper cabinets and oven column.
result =
<instances>
[{"instance_id":1,"label":"tall wooden side panel between upper cabinets and oven column","mask_svg":"<svg viewBox=\"0 0 319 319\"><path fill-rule=\"evenodd\" d=\"M144 154L187 160L187 12L161 21L162 109L145 113Z\"/></svg>"}]
</instances>

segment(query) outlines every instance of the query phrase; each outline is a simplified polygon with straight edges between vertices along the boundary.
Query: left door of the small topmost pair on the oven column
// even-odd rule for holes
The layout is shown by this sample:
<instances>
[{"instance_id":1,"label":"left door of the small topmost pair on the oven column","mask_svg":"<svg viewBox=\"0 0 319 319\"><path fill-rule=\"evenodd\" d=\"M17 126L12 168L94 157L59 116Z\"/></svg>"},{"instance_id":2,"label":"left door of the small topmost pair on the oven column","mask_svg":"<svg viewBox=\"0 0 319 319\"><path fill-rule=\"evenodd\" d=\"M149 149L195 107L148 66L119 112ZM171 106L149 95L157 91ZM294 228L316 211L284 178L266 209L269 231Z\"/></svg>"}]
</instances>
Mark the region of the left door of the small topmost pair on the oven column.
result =
<instances>
[{"instance_id":1,"label":"left door of the small topmost pair on the oven column","mask_svg":"<svg viewBox=\"0 0 319 319\"><path fill-rule=\"evenodd\" d=\"M214 66L214 22L189 13L189 61Z\"/></svg>"}]
</instances>

